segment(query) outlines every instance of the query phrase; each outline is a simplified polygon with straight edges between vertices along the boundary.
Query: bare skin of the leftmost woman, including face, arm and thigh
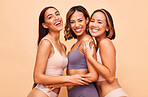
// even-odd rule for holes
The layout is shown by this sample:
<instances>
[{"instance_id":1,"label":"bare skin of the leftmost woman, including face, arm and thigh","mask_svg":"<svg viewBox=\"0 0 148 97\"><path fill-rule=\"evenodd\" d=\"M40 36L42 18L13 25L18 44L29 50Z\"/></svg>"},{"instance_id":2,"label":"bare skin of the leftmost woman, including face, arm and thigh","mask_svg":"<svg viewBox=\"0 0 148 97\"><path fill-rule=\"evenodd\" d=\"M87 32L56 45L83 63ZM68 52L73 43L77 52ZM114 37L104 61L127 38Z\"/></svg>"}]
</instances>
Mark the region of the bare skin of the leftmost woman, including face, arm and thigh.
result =
<instances>
[{"instance_id":1,"label":"bare skin of the leftmost woman, including face, arm and thigh","mask_svg":"<svg viewBox=\"0 0 148 97\"><path fill-rule=\"evenodd\" d=\"M46 10L44 15L44 23L42 26L48 29L50 32L44 37L52 41L58 52L66 58L66 47L59 41L60 31L63 28L63 20L60 13L55 8L49 8ZM56 25L58 22L60 24ZM64 47L64 48L63 48ZM73 75L73 76L52 76L45 75L46 65L48 58L54 54L54 48L50 41L44 39L40 41L37 51L36 63L34 68L34 82L39 84L60 84L60 83L71 83L71 84L87 84L88 79L85 79L85 75ZM59 89L53 90L55 93L59 93ZM39 89L33 88L27 97L48 97L44 92Z\"/></svg>"}]
</instances>

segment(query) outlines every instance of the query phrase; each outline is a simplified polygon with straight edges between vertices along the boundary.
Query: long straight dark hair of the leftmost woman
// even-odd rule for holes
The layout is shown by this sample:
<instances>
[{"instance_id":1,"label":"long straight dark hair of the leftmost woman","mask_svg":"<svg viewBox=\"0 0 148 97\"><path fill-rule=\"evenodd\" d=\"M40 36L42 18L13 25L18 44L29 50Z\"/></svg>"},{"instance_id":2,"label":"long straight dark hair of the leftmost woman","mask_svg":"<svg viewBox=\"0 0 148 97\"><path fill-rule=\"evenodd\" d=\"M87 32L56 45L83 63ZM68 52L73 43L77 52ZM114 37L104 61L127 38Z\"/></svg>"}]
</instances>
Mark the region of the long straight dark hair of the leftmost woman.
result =
<instances>
[{"instance_id":1,"label":"long straight dark hair of the leftmost woman","mask_svg":"<svg viewBox=\"0 0 148 97\"><path fill-rule=\"evenodd\" d=\"M45 29L45 28L42 26L42 23L45 22L45 21L44 21L45 12L46 12L46 10L49 9L49 8L54 8L54 9L56 9L56 8L53 7L53 6L45 7L45 8L41 11L40 16L39 16L39 37L38 37L38 45L39 45L41 39L49 33L48 29ZM57 10L57 9L56 9L56 10Z\"/></svg>"}]
</instances>

